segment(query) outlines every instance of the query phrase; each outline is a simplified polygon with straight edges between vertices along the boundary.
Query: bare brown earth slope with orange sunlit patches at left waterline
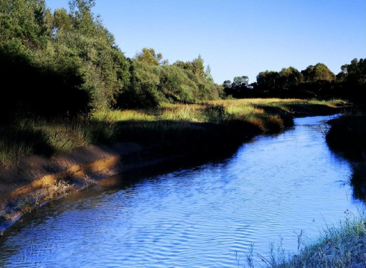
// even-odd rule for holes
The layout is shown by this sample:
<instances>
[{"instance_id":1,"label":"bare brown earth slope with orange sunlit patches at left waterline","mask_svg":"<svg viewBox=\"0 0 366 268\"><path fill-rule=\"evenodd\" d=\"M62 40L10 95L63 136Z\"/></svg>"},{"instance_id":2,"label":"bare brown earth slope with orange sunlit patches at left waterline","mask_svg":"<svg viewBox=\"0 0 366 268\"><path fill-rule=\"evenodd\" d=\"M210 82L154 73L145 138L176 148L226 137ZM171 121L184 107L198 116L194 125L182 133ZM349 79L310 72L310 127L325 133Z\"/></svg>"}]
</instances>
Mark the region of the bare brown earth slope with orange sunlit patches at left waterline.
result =
<instances>
[{"instance_id":1,"label":"bare brown earth slope with orange sunlit patches at left waterline","mask_svg":"<svg viewBox=\"0 0 366 268\"><path fill-rule=\"evenodd\" d=\"M0 168L0 234L23 213L132 168L169 161L157 148L136 143L90 145L51 159L32 155Z\"/></svg>"}]
</instances>

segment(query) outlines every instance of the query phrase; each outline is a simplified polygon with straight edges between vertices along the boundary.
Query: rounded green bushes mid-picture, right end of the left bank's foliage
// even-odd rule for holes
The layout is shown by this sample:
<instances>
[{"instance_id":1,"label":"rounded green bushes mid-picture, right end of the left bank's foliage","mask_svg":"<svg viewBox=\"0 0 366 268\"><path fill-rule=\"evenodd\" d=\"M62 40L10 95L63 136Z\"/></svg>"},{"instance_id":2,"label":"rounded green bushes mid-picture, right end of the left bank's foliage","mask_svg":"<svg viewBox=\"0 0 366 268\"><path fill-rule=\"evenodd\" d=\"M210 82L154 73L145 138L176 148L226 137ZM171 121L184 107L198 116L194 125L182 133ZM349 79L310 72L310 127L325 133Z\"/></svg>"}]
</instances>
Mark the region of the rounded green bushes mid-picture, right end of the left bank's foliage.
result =
<instances>
[{"instance_id":1,"label":"rounded green bushes mid-picture, right end of the left bank's foliage","mask_svg":"<svg viewBox=\"0 0 366 268\"><path fill-rule=\"evenodd\" d=\"M162 53L143 48L131 60L130 74L130 85L118 102L121 108L158 106L166 102L195 103L223 95L222 87L213 82L209 69L204 70L201 56L192 62L168 64Z\"/></svg>"}]
</instances>

